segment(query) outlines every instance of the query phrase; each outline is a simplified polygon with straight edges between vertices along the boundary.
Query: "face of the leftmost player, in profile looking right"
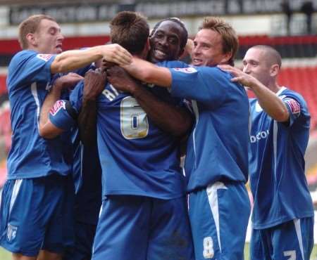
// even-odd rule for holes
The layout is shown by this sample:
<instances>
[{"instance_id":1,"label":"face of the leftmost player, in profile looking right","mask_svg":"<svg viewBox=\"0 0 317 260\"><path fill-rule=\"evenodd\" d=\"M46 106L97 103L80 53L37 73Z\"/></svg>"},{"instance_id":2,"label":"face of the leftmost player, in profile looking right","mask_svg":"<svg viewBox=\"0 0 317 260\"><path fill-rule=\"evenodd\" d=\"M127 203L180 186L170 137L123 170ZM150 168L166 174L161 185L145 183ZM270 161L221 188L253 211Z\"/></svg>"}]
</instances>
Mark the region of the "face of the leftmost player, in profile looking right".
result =
<instances>
[{"instance_id":1,"label":"face of the leftmost player, in profile looking right","mask_svg":"<svg viewBox=\"0 0 317 260\"><path fill-rule=\"evenodd\" d=\"M57 22L41 20L37 31L32 34L30 39L30 45L39 53L58 54L62 52L64 37Z\"/></svg>"}]
</instances>

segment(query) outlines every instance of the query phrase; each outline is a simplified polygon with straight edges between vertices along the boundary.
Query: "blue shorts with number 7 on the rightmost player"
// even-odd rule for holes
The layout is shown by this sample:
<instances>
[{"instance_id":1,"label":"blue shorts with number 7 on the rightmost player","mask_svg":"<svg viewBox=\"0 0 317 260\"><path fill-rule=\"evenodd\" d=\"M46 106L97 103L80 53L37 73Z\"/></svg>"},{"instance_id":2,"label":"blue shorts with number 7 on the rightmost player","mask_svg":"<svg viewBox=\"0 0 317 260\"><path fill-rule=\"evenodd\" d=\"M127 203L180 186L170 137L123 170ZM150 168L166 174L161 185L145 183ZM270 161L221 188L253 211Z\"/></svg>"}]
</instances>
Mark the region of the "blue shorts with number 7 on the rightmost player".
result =
<instances>
[{"instance_id":1,"label":"blue shorts with number 7 on the rightmost player","mask_svg":"<svg viewBox=\"0 0 317 260\"><path fill-rule=\"evenodd\" d=\"M253 229L252 260L309 260L313 249L313 217L294 219L266 229Z\"/></svg>"}]
</instances>

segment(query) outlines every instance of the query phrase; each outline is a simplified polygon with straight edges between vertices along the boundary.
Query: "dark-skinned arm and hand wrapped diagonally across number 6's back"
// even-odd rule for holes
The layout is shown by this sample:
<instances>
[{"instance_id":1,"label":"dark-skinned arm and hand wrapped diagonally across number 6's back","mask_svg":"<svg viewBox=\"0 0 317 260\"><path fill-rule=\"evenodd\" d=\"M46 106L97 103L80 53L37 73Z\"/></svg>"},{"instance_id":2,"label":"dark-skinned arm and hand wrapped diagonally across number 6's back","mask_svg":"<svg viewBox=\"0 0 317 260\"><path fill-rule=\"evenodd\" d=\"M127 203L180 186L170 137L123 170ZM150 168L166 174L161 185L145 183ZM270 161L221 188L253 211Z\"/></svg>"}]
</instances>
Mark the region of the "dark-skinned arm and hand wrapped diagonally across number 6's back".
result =
<instances>
[{"instance_id":1,"label":"dark-skinned arm and hand wrapped diagonally across number 6's back","mask_svg":"<svg viewBox=\"0 0 317 260\"><path fill-rule=\"evenodd\" d=\"M192 128L193 119L188 110L159 100L123 68L111 67L107 70L107 77L116 89L131 93L154 124L163 131L182 137Z\"/></svg>"}]
</instances>

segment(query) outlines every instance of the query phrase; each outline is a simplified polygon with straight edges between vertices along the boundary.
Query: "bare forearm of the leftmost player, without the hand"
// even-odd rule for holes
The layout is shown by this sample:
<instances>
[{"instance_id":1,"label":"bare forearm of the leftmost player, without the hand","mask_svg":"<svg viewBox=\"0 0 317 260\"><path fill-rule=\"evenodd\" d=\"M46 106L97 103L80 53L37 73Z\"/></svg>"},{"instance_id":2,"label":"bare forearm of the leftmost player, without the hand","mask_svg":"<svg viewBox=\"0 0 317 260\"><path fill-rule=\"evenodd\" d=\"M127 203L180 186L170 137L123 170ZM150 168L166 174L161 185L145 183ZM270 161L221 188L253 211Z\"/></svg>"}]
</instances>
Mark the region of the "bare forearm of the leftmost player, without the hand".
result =
<instances>
[{"instance_id":1,"label":"bare forearm of the leftmost player, without the hand","mask_svg":"<svg viewBox=\"0 0 317 260\"><path fill-rule=\"evenodd\" d=\"M51 63L51 74L85 67L102 57L101 46L94 46L85 50L64 51L58 54Z\"/></svg>"}]
</instances>

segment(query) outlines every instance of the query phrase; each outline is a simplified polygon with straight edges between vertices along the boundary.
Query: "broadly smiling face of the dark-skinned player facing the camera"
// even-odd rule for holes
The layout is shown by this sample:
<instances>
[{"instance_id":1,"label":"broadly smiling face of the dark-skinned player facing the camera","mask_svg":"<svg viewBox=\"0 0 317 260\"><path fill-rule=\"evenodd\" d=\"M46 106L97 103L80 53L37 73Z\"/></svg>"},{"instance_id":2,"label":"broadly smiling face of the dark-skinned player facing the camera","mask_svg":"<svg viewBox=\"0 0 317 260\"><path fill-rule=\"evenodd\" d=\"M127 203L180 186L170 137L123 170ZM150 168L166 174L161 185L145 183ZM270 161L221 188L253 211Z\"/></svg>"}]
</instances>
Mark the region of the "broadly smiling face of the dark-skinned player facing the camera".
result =
<instances>
[{"instance_id":1,"label":"broadly smiling face of the dark-skinned player facing the camera","mask_svg":"<svg viewBox=\"0 0 317 260\"><path fill-rule=\"evenodd\" d=\"M183 49L180 48L184 30L171 20L161 22L150 38L149 61L159 63L163 60L178 60Z\"/></svg>"}]
</instances>

